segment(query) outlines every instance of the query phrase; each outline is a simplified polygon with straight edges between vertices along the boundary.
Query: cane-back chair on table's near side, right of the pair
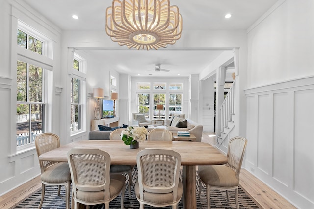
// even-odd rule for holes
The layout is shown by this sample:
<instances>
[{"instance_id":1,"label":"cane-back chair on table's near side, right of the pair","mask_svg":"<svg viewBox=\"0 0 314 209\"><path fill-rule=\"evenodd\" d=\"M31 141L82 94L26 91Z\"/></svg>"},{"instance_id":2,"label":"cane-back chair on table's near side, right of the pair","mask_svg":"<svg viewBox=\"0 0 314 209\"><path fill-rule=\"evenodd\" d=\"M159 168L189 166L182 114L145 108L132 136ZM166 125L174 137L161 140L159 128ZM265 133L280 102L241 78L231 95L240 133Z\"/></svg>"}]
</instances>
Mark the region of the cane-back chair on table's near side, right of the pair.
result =
<instances>
[{"instance_id":1,"label":"cane-back chair on table's near side, right of the pair","mask_svg":"<svg viewBox=\"0 0 314 209\"><path fill-rule=\"evenodd\" d=\"M137 154L136 164L135 194L140 209L144 209L144 204L176 209L183 194L180 154L173 150L144 149Z\"/></svg>"}]
</instances>

